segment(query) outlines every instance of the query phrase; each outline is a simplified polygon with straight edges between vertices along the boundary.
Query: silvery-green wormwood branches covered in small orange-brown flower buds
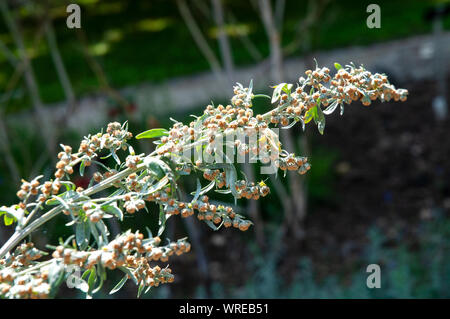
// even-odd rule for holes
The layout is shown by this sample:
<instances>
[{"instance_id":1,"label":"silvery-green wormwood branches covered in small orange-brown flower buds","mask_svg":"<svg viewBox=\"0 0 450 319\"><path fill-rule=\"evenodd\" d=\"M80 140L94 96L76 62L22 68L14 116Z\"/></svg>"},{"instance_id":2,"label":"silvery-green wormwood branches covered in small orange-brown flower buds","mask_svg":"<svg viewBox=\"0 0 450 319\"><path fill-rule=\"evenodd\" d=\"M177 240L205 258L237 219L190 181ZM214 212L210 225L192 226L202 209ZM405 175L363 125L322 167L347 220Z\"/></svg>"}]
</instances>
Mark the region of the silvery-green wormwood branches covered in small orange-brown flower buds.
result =
<instances>
[{"instance_id":1,"label":"silvery-green wormwood branches covered in small orange-brown flower buds","mask_svg":"<svg viewBox=\"0 0 450 319\"><path fill-rule=\"evenodd\" d=\"M17 192L19 203L2 206L5 225L15 223L14 234L0 249L0 296L2 298L46 298L55 296L57 288L80 271L75 288L90 298L99 291L107 277L107 270L123 272L123 278L110 292L118 291L127 280L138 286L138 296L151 287L173 282L168 266L162 266L170 257L189 252L186 238L168 241L163 245L160 236L168 218L196 214L212 229L234 227L247 230L251 222L237 214L232 206L210 203L206 193L215 190L231 193L236 199L257 200L266 196L269 188L264 182L248 181L236 170L237 162L259 160L266 172L297 171L304 174L310 169L306 157L296 156L282 149L274 126L290 128L301 123L303 129L311 121L320 133L325 127L325 115L344 105L360 100L363 105L371 101L406 100L408 92L389 84L383 74L372 74L354 64L342 67L330 75L328 68L307 70L296 87L281 83L274 87L272 97L255 95L252 85L234 86L234 96L227 106L208 105L200 117L194 116L189 125L174 121L171 129L152 129L137 138L156 139L155 150L148 154L135 154L128 143L132 134L128 125L114 122L105 132L84 137L78 150L61 145L54 178L42 181L38 176L23 180ZM252 100L271 99L273 109L265 114L253 114ZM128 155L125 160L120 152ZM114 158L116 165L107 167L99 158ZM75 169L80 175L85 167L95 163L100 168L86 189L76 188L71 182ZM181 194L178 184L183 176L202 175L207 183L197 179L197 189L189 200ZM242 177L240 178L240 176ZM147 210L146 202L159 206L156 236L148 230L148 237L130 230L111 239L107 218L122 220ZM153 212L150 212L153 214ZM31 242L31 234L40 226L64 215L74 235L48 254ZM160 265L158 265L159 263Z\"/></svg>"}]
</instances>

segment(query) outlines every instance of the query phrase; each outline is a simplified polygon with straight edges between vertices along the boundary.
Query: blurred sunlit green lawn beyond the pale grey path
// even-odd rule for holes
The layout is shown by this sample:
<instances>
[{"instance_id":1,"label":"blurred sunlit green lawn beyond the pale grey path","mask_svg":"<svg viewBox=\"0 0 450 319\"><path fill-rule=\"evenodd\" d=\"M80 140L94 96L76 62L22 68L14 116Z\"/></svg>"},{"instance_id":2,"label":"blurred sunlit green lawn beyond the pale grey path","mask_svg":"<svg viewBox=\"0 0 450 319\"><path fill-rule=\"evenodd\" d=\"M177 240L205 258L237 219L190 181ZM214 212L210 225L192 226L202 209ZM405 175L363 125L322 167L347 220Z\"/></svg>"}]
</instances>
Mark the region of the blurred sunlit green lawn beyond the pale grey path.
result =
<instances>
[{"instance_id":1,"label":"blurred sunlit green lawn beyond the pale grey path","mask_svg":"<svg viewBox=\"0 0 450 319\"><path fill-rule=\"evenodd\" d=\"M305 50L367 45L431 30L431 23L424 19L424 15L434 1L378 1L382 11L381 29L369 29L365 25L368 15L366 7L370 3L371 1L331 1L310 30L311 43ZM194 44L174 2L111 0L82 1L80 4L82 30L87 35L89 51L100 62L113 87L120 88L146 81L159 82L174 76L209 70L208 63ZM225 1L224 7L226 16L233 14L237 21L228 25L236 65L254 62L238 39L239 32L246 34L260 53L267 56L267 37L259 14L250 2L229 0ZM61 101L64 100L64 93L43 41L45 38L36 48L32 47L36 32L33 8L35 7L19 11L40 93L46 103ZM286 8L283 20L284 45L295 37L298 23L307 13L308 2L288 0ZM192 11L212 49L218 54L213 32L214 21L203 16L195 6L192 6ZM98 90L98 79L85 60L77 33L66 27L64 7L55 7L52 12L56 16L54 24L60 51L76 94ZM450 17L445 19L444 27L450 28ZM12 47L12 39L3 23L0 24L0 38ZM304 35L301 34L300 39L303 38ZM292 55L303 53L305 51L300 47ZM4 88L13 69L3 56L0 56L0 70L0 87ZM28 107L28 97L23 93L22 89L16 91L16 98L8 105L10 111Z\"/></svg>"}]
</instances>

